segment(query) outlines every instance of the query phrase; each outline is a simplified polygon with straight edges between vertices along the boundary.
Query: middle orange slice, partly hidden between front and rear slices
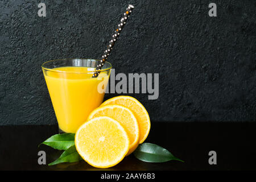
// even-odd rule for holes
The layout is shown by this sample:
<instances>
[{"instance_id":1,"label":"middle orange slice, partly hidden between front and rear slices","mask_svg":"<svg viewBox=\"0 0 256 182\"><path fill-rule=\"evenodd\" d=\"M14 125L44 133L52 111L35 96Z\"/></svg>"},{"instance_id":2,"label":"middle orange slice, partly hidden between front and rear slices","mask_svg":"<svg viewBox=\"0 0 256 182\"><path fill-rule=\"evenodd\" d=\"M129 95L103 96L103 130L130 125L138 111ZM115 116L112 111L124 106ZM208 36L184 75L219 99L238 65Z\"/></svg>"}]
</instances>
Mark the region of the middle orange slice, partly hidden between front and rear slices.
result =
<instances>
[{"instance_id":1,"label":"middle orange slice, partly hidden between front and rear slices","mask_svg":"<svg viewBox=\"0 0 256 182\"><path fill-rule=\"evenodd\" d=\"M100 116L108 116L121 123L130 140L130 150L127 155L131 154L139 144L139 125L133 111L121 105L105 105L93 110L88 119Z\"/></svg>"}]
</instances>

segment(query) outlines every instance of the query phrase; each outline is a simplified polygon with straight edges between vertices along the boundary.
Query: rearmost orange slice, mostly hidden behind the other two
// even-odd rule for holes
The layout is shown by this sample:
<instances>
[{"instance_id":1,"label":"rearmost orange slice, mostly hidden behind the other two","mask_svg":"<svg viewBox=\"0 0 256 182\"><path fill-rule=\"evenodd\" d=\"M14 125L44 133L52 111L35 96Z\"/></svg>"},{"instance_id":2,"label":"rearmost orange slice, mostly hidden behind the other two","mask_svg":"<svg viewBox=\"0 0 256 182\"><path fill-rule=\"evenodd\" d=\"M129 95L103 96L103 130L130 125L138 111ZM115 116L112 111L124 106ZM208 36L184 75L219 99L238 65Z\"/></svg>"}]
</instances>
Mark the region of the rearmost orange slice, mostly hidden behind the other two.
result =
<instances>
[{"instance_id":1,"label":"rearmost orange slice, mostly hidden behind the other two","mask_svg":"<svg viewBox=\"0 0 256 182\"><path fill-rule=\"evenodd\" d=\"M137 121L139 123L139 143L143 143L146 140L150 131L150 117L145 107L136 98L130 96L118 96L106 100L101 106L108 104L118 104L128 107L133 111Z\"/></svg>"}]
</instances>

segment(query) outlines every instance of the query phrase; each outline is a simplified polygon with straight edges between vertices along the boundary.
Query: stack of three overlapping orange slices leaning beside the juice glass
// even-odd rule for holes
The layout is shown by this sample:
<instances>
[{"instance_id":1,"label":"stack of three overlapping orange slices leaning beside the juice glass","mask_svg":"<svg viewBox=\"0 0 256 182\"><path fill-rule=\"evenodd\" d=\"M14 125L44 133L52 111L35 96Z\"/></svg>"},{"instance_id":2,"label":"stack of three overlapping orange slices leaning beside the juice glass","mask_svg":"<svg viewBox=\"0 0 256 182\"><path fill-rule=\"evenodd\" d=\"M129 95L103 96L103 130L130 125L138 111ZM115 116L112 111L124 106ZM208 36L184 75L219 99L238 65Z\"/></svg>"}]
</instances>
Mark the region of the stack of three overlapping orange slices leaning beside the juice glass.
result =
<instances>
[{"instance_id":1,"label":"stack of three overlapping orange slices leaning beside the juice glass","mask_svg":"<svg viewBox=\"0 0 256 182\"><path fill-rule=\"evenodd\" d=\"M150 118L144 106L133 97L118 96L89 114L76 132L76 149L92 166L107 168L131 154L149 131Z\"/></svg>"}]
</instances>

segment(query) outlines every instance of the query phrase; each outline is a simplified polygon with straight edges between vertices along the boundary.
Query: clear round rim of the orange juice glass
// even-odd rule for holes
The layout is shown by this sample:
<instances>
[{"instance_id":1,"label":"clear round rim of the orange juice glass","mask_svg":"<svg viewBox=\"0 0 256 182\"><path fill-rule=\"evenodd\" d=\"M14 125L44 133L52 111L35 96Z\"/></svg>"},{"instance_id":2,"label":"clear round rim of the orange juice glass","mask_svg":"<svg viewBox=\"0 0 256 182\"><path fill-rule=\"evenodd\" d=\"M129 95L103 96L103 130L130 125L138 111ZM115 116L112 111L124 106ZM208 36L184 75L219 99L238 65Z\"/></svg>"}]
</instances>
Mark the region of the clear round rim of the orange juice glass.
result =
<instances>
[{"instance_id":1,"label":"clear round rim of the orange juice glass","mask_svg":"<svg viewBox=\"0 0 256 182\"><path fill-rule=\"evenodd\" d=\"M60 71L60 70L54 70L53 68L46 68L46 67L44 67L44 65L45 64L47 64L47 63L51 63L51 62L53 62L53 61L60 61L60 60L73 60L73 59L85 59L85 60L95 60L95 61L101 61L101 60L99 60L99 59L90 59L90 58L65 58L65 59L53 59L53 60L49 60L49 61L46 61L46 62L44 62L42 65L41 65L41 67L42 67L42 69L44 69L44 70L47 70L47 71L50 71L50 72L58 72L58 73L90 73L90 74L93 74L94 73L94 71L87 71L87 72L67 72L67 71ZM111 63L109 63L108 61L105 61L105 63L108 63L109 64L109 67L108 68L105 68L105 69L100 69L99 71L100 72L104 72L104 71L108 71L109 69L111 69L112 68L112 64ZM90 68L93 68L93 67L90 67Z\"/></svg>"}]
</instances>

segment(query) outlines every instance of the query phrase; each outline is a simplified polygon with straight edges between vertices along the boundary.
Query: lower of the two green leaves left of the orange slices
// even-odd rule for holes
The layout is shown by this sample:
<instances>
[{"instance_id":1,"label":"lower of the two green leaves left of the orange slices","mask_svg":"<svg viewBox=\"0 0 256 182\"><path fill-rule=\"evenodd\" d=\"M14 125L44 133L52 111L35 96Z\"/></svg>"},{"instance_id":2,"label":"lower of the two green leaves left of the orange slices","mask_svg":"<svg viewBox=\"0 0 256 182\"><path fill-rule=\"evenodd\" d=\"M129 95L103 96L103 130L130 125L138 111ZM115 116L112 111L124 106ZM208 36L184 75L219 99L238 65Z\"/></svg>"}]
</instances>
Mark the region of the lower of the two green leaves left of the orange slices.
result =
<instances>
[{"instance_id":1,"label":"lower of the two green leaves left of the orange slices","mask_svg":"<svg viewBox=\"0 0 256 182\"><path fill-rule=\"evenodd\" d=\"M48 164L48 166L52 166L59 163L73 163L79 160L82 160L82 158L76 151L76 146L71 146L60 155L59 159Z\"/></svg>"}]
</instances>

